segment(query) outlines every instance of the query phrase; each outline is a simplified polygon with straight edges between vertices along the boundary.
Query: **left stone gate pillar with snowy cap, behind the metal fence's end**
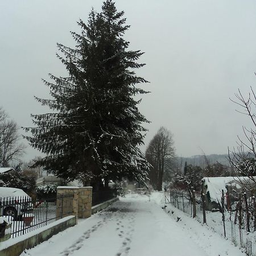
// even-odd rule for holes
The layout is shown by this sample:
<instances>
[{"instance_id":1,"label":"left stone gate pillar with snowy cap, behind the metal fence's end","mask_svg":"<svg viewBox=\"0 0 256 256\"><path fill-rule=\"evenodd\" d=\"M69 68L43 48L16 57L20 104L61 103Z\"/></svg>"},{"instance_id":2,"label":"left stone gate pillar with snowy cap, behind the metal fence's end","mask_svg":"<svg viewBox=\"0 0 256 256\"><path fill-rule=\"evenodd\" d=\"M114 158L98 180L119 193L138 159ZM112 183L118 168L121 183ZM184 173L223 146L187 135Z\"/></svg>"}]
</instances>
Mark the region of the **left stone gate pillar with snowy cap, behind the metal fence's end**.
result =
<instances>
[{"instance_id":1,"label":"left stone gate pillar with snowy cap, behind the metal fence's end","mask_svg":"<svg viewBox=\"0 0 256 256\"><path fill-rule=\"evenodd\" d=\"M61 196L63 195L63 197ZM57 218L61 218L61 214L71 213L78 216L78 200L79 187L57 187Z\"/></svg>"}]
</instances>

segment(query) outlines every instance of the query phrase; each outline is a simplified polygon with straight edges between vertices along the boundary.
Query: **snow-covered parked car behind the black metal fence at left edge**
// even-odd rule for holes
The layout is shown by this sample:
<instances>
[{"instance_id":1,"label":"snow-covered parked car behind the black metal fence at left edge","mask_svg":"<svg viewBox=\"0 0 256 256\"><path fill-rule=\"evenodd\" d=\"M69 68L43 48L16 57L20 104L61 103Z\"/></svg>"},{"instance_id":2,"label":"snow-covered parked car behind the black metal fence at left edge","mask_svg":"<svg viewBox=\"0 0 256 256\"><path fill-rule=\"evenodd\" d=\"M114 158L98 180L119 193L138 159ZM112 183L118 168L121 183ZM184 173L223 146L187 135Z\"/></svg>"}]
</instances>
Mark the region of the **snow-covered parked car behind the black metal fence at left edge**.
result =
<instances>
[{"instance_id":1,"label":"snow-covered parked car behind the black metal fence at left edge","mask_svg":"<svg viewBox=\"0 0 256 256\"><path fill-rule=\"evenodd\" d=\"M11 216L21 220L22 214L32 212L31 197L19 188L0 187L0 216Z\"/></svg>"}]
</instances>

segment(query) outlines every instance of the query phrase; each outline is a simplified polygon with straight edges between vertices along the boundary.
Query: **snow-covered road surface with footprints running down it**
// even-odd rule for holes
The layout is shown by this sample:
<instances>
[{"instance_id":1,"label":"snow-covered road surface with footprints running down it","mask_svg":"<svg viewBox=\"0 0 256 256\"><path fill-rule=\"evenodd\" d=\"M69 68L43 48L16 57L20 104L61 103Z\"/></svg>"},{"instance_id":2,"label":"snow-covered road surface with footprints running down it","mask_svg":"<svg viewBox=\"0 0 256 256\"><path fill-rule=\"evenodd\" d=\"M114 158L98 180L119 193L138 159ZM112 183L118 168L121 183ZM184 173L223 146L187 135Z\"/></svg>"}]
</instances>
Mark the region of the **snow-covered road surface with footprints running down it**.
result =
<instances>
[{"instance_id":1,"label":"snow-covered road surface with footprints running down it","mask_svg":"<svg viewBox=\"0 0 256 256\"><path fill-rule=\"evenodd\" d=\"M21 255L245 255L207 226L163 206L162 193L152 193L150 201L129 194Z\"/></svg>"}]
</instances>

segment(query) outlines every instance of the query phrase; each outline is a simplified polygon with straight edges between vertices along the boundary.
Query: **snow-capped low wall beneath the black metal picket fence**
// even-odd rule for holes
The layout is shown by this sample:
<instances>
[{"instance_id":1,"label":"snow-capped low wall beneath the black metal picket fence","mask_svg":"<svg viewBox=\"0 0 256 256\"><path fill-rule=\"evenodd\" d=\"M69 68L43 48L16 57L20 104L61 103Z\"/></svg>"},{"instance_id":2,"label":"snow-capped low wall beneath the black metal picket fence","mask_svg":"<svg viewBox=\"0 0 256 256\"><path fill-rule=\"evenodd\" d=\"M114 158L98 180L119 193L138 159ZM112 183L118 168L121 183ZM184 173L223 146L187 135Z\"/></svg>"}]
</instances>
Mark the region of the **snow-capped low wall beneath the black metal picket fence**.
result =
<instances>
[{"instance_id":1,"label":"snow-capped low wall beneath the black metal picket fence","mask_svg":"<svg viewBox=\"0 0 256 256\"><path fill-rule=\"evenodd\" d=\"M53 235L76 225L76 217L68 216L52 222L47 226L33 230L23 236L16 238L10 238L5 242L0 243L0 255L1 256L18 256L25 249L30 249L39 243L48 240ZM48 228L47 228L48 227ZM46 229L47 228L47 229ZM47 254L47 253L46 253Z\"/></svg>"}]
</instances>

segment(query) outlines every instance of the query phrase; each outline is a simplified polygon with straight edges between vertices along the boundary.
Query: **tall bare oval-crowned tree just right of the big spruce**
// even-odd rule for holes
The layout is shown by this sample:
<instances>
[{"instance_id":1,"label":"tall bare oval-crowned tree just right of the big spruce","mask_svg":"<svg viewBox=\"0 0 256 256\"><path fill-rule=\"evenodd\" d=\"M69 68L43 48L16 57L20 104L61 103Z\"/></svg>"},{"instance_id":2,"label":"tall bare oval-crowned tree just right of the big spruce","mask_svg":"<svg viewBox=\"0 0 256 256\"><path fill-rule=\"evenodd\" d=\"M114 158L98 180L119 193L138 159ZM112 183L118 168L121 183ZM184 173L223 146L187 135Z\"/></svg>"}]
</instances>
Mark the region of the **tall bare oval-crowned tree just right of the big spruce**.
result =
<instances>
[{"instance_id":1,"label":"tall bare oval-crowned tree just right of the big spruce","mask_svg":"<svg viewBox=\"0 0 256 256\"><path fill-rule=\"evenodd\" d=\"M162 191L163 174L167 159L174 158L174 156L175 148L172 134L166 128L160 127L146 149L146 158L152 165L148 176L151 184L158 191Z\"/></svg>"}]
</instances>

